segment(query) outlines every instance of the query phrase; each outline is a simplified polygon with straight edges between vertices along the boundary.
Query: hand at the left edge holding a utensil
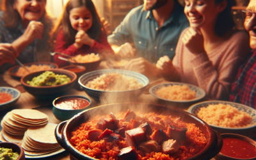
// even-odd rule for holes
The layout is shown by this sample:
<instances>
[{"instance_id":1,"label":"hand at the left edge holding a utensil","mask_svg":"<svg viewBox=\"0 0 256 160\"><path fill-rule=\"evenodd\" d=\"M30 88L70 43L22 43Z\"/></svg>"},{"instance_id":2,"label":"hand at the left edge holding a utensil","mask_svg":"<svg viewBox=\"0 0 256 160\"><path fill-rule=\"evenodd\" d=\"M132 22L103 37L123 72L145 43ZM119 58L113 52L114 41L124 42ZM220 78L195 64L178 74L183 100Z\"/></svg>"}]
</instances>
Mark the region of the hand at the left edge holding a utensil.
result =
<instances>
[{"instance_id":1,"label":"hand at the left edge holding a utensil","mask_svg":"<svg viewBox=\"0 0 256 160\"><path fill-rule=\"evenodd\" d=\"M15 63L15 58L19 56L19 53L12 46L12 44L0 44L0 66L4 63Z\"/></svg>"}]
</instances>

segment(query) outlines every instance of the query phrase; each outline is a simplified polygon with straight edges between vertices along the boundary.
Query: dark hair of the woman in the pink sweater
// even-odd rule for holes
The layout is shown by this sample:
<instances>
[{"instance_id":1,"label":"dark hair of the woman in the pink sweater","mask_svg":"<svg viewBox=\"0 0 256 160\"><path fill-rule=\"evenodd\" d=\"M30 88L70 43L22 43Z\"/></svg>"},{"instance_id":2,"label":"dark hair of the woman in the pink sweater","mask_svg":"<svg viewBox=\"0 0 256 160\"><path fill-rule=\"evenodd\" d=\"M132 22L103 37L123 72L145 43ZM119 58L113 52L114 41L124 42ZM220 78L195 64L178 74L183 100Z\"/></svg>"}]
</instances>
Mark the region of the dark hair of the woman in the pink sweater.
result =
<instances>
[{"instance_id":1,"label":"dark hair of the woman in the pink sweater","mask_svg":"<svg viewBox=\"0 0 256 160\"><path fill-rule=\"evenodd\" d=\"M231 7L236 6L236 1L235 0L215 0L215 3L219 4L223 1L227 1L227 6L221 13L219 13L214 26L215 33L218 36L225 35L227 31L234 28L235 26L235 23L231 15Z\"/></svg>"}]
</instances>

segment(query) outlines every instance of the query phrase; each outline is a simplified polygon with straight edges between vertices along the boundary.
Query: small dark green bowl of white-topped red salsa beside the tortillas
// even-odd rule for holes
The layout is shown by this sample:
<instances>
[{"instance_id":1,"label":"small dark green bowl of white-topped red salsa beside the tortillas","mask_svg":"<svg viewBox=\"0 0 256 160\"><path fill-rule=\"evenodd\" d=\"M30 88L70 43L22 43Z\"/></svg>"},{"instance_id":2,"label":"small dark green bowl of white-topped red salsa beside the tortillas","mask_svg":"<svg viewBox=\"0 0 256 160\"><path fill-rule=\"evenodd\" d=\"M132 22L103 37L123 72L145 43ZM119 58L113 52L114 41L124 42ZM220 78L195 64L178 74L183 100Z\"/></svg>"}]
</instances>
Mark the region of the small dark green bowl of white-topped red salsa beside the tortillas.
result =
<instances>
[{"instance_id":1,"label":"small dark green bowl of white-topped red salsa beside the tortillas","mask_svg":"<svg viewBox=\"0 0 256 160\"><path fill-rule=\"evenodd\" d=\"M90 108L92 101L81 95L65 95L52 102L52 112L61 121L69 120L77 113Z\"/></svg>"}]
</instances>

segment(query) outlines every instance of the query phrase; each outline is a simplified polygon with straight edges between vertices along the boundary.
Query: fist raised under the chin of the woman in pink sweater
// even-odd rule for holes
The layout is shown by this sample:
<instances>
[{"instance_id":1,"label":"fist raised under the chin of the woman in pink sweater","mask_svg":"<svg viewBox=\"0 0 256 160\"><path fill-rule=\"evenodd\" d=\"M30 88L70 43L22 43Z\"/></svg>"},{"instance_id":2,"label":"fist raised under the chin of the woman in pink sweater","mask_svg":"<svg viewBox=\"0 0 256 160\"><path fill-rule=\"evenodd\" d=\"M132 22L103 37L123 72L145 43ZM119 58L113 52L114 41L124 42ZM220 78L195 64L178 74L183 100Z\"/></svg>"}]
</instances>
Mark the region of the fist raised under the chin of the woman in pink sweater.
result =
<instances>
[{"instance_id":1,"label":"fist raised under the chin of the woman in pink sweater","mask_svg":"<svg viewBox=\"0 0 256 160\"><path fill-rule=\"evenodd\" d=\"M204 37L202 36L200 31L189 28L182 37L182 42L193 54L200 54L202 52L205 52Z\"/></svg>"}]
</instances>

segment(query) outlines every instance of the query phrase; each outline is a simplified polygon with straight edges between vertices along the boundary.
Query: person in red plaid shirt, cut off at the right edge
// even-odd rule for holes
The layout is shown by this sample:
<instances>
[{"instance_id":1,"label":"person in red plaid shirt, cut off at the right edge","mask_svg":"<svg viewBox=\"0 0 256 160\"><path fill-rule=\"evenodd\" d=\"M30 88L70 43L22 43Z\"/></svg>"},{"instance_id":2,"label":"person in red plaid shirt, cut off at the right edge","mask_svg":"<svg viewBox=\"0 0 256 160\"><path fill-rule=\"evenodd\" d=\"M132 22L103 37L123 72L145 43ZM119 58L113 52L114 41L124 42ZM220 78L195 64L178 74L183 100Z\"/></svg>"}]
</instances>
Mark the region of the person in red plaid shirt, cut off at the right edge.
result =
<instances>
[{"instance_id":1,"label":"person in red plaid shirt, cut off at the right edge","mask_svg":"<svg viewBox=\"0 0 256 160\"><path fill-rule=\"evenodd\" d=\"M244 28L250 34L253 54L239 68L236 80L232 83L229 100L256 108L256 0L250 1L244 11L244 18Z\"/></svg>"}]
</instances>

